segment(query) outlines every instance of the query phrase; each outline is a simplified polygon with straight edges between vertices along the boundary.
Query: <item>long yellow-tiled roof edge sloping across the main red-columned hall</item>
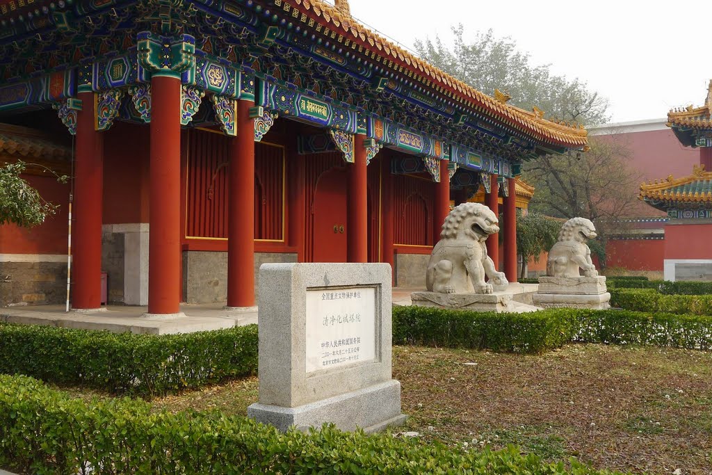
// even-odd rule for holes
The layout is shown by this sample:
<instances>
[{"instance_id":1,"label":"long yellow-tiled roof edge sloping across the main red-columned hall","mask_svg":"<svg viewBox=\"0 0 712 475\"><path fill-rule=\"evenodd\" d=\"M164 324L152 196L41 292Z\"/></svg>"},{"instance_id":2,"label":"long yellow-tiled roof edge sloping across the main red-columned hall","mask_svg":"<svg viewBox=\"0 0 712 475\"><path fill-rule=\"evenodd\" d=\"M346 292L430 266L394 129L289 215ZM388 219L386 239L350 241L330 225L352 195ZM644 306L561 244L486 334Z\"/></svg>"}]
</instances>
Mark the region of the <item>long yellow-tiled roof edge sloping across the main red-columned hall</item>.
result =
<instances>
[{"instance_id":1,"label":"long yellow-tiled roof edge sloping across the main red-columned hall","mask_svg":"<svg viewBox=\"0 0 712 475\"><path fill-rule=\"evenodd\" d=\"M275 0L281 4L281 0ZM358 23L352 16L344 14L343 9L326 3L324 0L292 0L306 13L313 12L315 16L323 19L331 28L335 27L339 33L350 33L353 38L358 38L370 50L379 55L390 58L390 61L400 61L404 66L424 75L429 80L449 88L464 100L469 100L474 106L480 105L498 115L498 118L516 128L534 132L543 141L553 140L568 147L587 147L587 132L581 125L567 125L566 123L553 122L543 118L543 111L534 108L532 112L508 105L506 100L497 100L470 85L454 78L444 71L431 66L422 58L397 46L387 38ZM337 2L342 4L342 1ZM333 26L332 26L333 25Z\"/></svg>"}]
</instances>

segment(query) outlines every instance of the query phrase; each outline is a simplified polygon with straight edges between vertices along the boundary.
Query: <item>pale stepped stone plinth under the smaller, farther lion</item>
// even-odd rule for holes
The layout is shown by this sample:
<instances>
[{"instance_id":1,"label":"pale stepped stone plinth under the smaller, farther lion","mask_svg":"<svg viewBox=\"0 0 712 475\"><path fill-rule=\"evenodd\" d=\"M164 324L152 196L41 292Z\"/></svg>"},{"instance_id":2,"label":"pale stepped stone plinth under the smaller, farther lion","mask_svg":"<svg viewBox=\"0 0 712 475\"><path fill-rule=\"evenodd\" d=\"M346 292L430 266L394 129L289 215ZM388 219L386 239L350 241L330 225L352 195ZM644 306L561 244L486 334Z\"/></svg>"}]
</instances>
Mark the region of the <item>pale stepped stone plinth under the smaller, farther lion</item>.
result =
<instances>
[{"instance_id":1,"label":"pale stepped stone plinth under the smaller, farther lion","mask_svg":"<svg viewBox=\"0 0 712 475\"><path fill-rule=\"evenodd\" d=\"M610 308L611 294L606 291L606 278L540 277L534 305L543 308Z\"/></svg>"}]
</instances>

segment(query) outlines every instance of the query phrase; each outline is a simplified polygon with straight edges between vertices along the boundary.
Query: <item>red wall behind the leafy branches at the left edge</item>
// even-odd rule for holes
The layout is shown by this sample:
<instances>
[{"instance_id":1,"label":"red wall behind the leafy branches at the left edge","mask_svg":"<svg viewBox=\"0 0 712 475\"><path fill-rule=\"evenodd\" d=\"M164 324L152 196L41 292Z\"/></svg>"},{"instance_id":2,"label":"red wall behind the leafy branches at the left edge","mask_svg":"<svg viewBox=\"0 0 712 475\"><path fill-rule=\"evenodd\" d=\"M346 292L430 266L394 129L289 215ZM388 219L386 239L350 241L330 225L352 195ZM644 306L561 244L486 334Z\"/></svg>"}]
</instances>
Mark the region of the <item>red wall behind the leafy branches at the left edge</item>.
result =
<instances>
[{"instance_id":1,"label":"red wall behind the leafy branches at the left edge","mask_svg":"<svg viewBox=\"0 0 712 475\"><path fill-rule=\"evenodd\" d=\"M23 175L40 196L58 204L56 214L43 224L24 229L13 224L0 226L0 254L66 254L69 184L61 184L53 177Z\"/></svg>"}]
</instances>

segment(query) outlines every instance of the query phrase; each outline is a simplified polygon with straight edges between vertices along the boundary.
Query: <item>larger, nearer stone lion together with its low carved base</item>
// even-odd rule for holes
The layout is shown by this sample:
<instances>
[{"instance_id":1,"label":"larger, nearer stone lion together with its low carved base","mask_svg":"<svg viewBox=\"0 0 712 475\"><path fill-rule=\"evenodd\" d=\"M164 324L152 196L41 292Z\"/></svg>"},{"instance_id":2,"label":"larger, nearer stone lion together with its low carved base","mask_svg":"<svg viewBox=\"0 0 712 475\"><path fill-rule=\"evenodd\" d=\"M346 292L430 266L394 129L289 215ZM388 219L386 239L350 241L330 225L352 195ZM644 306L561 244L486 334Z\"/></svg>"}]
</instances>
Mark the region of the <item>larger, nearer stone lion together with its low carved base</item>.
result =
<instances>
[{"instance_id":1,"label":"larger, nearer stone lion together with its low carved base","mask_svg":"<svg viewBox=\"0 0 712 475\"><path fill-rule=\"evenodd\" d=\"M413 305L462 310L513 311L507 278L487 256L485 241L499 232L491 209L463 203L448 214L426 270L426 292L411 294ZM485 279L488 280L485 280Z\"/></svg>"}]
</instances>

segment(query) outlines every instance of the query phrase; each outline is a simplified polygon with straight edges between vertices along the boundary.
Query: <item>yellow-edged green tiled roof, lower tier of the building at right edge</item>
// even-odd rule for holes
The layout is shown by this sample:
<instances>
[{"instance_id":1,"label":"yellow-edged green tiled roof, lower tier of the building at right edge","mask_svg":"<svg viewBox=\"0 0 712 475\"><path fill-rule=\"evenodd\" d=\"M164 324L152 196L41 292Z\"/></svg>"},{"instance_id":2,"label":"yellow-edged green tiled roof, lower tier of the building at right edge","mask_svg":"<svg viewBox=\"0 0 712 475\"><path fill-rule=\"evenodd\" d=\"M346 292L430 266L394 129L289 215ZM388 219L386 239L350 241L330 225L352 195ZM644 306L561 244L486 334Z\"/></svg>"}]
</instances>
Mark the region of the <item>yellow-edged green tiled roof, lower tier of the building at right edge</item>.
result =
<instances>
[{"instance_id":1,"label":"yellow-edged green tiled roof, lower tier of the building at right edge","mask_svg":"<svg viewBox=\"0 0 712 475\"><path fill-rule=\"evenodd\" d=\"M712 172L704 165L694 165L692 174L675 179L655 180L640 185L639 199L644 201L712 202Z\"/></svg>"}]
</instances>

